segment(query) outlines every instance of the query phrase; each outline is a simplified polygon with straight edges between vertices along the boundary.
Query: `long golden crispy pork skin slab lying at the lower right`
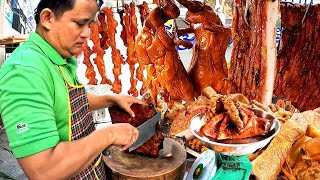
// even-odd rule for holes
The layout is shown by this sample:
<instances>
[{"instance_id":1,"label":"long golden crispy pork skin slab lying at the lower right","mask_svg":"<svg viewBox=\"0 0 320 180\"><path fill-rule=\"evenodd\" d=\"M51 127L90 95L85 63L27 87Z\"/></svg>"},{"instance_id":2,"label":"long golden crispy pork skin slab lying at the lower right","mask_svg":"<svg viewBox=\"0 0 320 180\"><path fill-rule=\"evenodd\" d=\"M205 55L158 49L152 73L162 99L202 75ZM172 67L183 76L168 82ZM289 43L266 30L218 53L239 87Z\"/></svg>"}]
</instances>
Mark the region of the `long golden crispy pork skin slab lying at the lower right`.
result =
<instances>
[{"instance_id":1,"label":"long golden crispy pork skin slab lying at the lower right","mask_svg":"<svg viewBox=\"0 0 320 180\"><path fill-rule=\"evenodd\" d=\"M252 162L252 175L261 180L277 179L293 144L306 133L310 124L318 128L320 114L314 111L295 113L281 126L267 149Z\"/></svg>"}]
</instances>

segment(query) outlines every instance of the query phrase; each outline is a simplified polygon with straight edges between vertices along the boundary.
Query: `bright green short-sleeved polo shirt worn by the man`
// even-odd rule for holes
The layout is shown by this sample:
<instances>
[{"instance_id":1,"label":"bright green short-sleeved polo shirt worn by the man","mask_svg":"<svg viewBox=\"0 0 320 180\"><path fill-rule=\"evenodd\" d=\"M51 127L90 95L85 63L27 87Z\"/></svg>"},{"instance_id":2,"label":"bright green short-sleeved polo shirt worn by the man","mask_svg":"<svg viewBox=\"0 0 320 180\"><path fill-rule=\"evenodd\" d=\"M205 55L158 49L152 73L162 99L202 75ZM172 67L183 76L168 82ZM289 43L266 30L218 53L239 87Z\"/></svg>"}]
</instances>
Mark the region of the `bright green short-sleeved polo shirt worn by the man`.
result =
<instances>
[{"instance_id":1,"label":"bright green short-sleeved polo shirt worn by the man","mask_svg":"<svg viewBox=\"0 0 320 180\"><path fill-rule=\"evenodd\" d=\"M64 60L31 33L0 69L0 112L16 158L68 141L69 102L58 66L70 83L77 82L76 59Z\"/></svg>"}]
</instances>

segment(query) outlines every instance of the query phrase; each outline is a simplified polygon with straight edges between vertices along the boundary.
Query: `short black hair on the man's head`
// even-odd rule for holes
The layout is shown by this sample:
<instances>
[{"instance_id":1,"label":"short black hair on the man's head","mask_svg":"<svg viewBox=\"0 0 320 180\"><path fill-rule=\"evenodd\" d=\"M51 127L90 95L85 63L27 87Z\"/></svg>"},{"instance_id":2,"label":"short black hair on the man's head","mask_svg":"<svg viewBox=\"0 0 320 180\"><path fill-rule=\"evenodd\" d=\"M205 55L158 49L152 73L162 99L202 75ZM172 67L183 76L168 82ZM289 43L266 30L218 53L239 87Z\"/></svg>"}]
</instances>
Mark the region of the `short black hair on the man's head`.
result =
<instances>
[{"instance_id":1,"label":"short black hair on the man's head","mask_svg":"<svg viewBox=\"0 0 320 180\"><path fill-rule=\"evenodd\" d=\"M38 24L40 21L40 13L43 9L49 8L59 18L64 12L73 9L76 0L41 0L34 10L34 19ZM103 4L103 0L97 0L98 7Z\"/></svg>"}]
</instances>

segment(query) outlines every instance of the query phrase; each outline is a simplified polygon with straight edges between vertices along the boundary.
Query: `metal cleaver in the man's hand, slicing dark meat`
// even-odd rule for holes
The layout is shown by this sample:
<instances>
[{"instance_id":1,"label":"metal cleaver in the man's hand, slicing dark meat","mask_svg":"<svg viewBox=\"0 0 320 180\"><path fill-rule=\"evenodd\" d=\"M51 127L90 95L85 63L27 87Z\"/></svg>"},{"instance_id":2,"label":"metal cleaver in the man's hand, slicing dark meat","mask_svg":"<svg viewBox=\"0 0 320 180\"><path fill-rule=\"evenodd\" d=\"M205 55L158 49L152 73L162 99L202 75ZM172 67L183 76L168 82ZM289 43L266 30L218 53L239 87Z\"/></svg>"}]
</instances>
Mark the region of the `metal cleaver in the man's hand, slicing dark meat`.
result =
<instances>
[{"instance_id":1,"label":"metal cleaver in the man's hand, slicing dark meat","mask_svg":"<svg viewBox=\"0 0 320 180\"><path fill-rule=\"evenodd\" d=\"M139 136L136 142L134 142L129 147L129 152L134 151L141 145L143 145L145 142L147 142L155 133L157 129L157 124L161 120L161 113L157 112L156 115L154 115L152 118L147 120L146 122L142 123L140 126L137 127L139 131ZM119 151L121 146L117 145L111 145L108 148L106 148L102 154L105 156L111 155L114 151Z\"/></svg>"}]
</instances>

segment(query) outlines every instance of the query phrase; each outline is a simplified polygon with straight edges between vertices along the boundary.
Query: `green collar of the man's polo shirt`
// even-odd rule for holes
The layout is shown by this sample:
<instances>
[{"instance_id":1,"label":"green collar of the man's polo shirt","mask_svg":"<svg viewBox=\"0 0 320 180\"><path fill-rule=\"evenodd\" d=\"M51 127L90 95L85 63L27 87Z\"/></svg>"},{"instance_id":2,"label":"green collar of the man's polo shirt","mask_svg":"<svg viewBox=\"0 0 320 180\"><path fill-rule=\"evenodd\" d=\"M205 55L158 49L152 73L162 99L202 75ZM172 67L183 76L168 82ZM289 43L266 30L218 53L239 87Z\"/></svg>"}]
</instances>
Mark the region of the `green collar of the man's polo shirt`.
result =
<instances>
[{"instance_id":1,"label":"green collar of the man's polo shirt","mask_svg":"<svg viewBox=\"0 0 320 180\"><path fill-rule=\"evenodd\" d=\"M54 63L59 66L68 64L66 60L55 50L47 41L45 41L38 33L31 32L29 40L35 43L43 51L43 53ZM68 62L75 63L75 58L71 57Z\"/></svg>"}]
</instances>

